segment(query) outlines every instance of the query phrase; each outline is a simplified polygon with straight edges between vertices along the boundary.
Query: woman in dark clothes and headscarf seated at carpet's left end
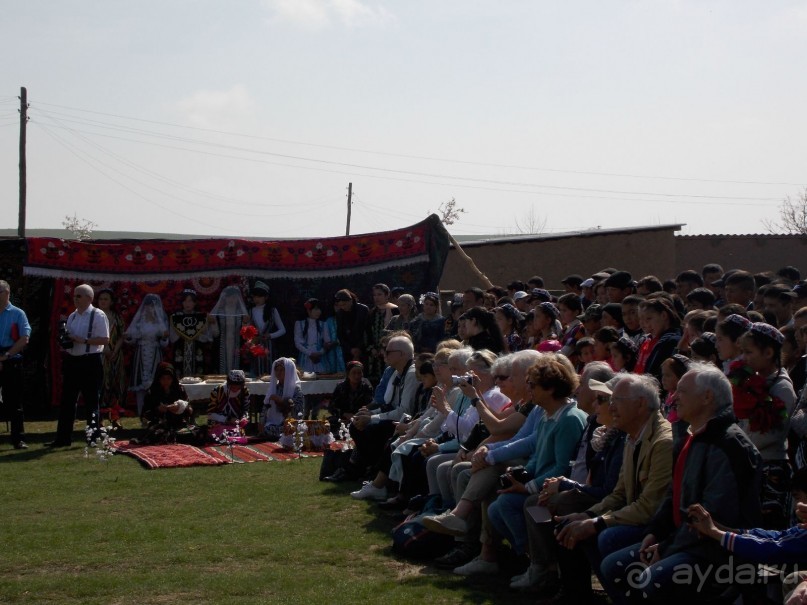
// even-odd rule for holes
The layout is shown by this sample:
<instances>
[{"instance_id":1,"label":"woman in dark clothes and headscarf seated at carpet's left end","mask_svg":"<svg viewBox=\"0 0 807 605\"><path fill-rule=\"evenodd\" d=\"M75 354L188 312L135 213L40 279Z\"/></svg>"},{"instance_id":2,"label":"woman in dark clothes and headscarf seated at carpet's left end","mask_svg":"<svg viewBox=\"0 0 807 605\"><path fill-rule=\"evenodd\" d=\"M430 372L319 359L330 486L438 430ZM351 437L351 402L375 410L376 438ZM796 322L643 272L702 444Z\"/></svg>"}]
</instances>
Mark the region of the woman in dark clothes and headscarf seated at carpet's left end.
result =
<instances>
[{"instance_id":1,"label":"woman in dark clothes and headscarf seated at carpet's left end","mask_svg":"<svg viewBox=\"0 0 807 605\"><path fill-rule=\"evenodd\" d=\"M146 423L142 437L131 443L161 445L197 441L198 427L193 424L193 408L188 404L185 390L177 380L174 366L161 363L154 383L146 393L141 417Z\"/></svg>"}]
</instances>

